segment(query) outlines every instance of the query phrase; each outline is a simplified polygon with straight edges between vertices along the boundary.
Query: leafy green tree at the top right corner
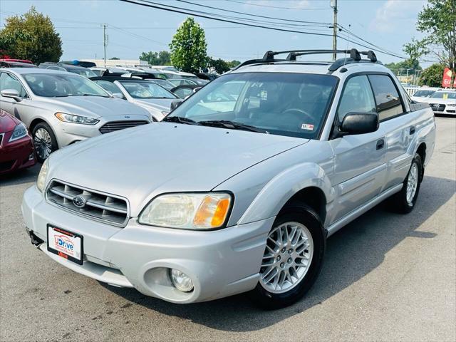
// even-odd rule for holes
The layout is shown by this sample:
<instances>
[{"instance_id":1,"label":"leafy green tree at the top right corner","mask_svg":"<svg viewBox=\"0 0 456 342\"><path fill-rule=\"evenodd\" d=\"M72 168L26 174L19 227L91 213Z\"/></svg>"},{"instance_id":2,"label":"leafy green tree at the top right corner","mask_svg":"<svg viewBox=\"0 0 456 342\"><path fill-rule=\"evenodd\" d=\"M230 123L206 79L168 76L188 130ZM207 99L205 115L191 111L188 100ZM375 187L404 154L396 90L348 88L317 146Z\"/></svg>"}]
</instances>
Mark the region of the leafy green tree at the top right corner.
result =
<instances>
[{"instance_id":1,"label":"leafy green tree at the top right corner","mask_svg":"<svg viewBox=\"0 0 456 342\"><path fill-rule=\"evenodd\" d=\"M420 41L407 44L418 56L435 56L456 76L456 0L428 0L418 14L418 31L425 33Z\"/></svg>"}]
</instances>

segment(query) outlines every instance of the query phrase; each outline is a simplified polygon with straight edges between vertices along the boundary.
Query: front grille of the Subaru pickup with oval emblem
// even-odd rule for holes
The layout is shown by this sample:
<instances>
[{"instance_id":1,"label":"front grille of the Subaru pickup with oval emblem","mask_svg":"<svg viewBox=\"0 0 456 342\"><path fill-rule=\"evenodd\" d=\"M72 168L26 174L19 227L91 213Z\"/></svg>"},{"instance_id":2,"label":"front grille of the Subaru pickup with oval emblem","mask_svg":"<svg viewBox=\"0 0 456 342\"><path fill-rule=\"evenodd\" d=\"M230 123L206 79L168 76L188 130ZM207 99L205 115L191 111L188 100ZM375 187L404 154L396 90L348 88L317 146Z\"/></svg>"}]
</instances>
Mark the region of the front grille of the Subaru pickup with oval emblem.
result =
<instances>
[{"instance_id":1,"label":"front grille of the Subaru pickup with oval emblem","mask_svg":"<svg viewBox=\"0 0 456 342\"><path fill-rule=\"evenodd\" d=\"M109 224L125 226L130 217L126 199L69 185L58 180L51 181L46 197L48 202L64 209ZM78 198L76 199L76 197ZM81 203L83 203L82 206Z\"/></svg>"}]
</instances>

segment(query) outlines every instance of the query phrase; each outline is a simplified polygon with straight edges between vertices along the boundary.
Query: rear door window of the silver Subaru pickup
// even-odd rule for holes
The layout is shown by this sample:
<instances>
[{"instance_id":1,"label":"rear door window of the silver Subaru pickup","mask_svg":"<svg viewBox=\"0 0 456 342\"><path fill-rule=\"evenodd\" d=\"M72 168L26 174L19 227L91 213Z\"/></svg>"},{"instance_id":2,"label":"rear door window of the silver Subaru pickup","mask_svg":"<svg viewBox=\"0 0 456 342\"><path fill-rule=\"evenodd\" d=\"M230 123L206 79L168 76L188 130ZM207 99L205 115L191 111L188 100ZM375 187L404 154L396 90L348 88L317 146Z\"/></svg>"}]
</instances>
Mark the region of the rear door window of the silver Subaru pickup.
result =
<instances>
[{"instance_id":1,"label":"rear door window of the silver Subaru pickup","mask_svg":"<svg viewBox=\"0 0 456 342\"><path fill-rule=\"evenodd\" d=\"M369 75L368 77L377 103L378 119L382 121L403 113L398 90L391 78L386 75Z\"/></svg>"}]
</instances>

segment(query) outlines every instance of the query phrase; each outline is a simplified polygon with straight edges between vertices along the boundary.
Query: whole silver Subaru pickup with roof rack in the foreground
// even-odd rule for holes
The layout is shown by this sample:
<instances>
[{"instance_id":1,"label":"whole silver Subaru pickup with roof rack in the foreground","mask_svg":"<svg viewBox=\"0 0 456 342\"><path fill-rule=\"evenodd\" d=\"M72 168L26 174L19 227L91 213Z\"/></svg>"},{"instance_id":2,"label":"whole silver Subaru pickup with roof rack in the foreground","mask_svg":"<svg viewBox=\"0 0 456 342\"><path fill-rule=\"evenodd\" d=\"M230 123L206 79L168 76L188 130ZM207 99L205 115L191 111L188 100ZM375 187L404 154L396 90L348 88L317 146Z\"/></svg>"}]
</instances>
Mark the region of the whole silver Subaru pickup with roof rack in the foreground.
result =
<instances>
[{"instance_id":1,"label":"whole silver Subaru pickup with roof rack in the foreground","mask_svg":"<svg viewBox=\"0 0 456 342\"><path fill-rule=\"evenodd\" d=\"M174 303L300 299L328 236L392 195L413 209L434 150L429 106L371 51L348 53L302 63L269 51L160 123L56 152L24 195L31 241L76 272Z\"/></svg>"}]
</instances>

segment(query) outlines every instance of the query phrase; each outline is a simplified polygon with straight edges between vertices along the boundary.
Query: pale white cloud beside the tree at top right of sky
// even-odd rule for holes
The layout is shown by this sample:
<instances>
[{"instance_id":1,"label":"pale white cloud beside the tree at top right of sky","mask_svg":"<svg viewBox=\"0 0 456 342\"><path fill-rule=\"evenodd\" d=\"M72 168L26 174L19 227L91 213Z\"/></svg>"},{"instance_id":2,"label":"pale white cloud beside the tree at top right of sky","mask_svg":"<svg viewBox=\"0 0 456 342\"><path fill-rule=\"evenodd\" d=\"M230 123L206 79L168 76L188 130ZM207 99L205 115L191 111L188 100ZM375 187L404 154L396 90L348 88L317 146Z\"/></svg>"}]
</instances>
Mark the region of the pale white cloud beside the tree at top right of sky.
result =
<instances>
[{"instance_id":1,"label":"pale white cloud beside the tree at top right of sky","mask_svg":"<svg viewBox=\"0 0 456 342\"><path fill-rule=\"evenodd\" d=\"M371 21L369 28L371 31L381 33L392 33L398 26L413 26L415 27L416 15L423 5L425 0L420 1L403 1L403 0L388 0L377 9L375 18Z\"/></svg>"}]
</instances>

